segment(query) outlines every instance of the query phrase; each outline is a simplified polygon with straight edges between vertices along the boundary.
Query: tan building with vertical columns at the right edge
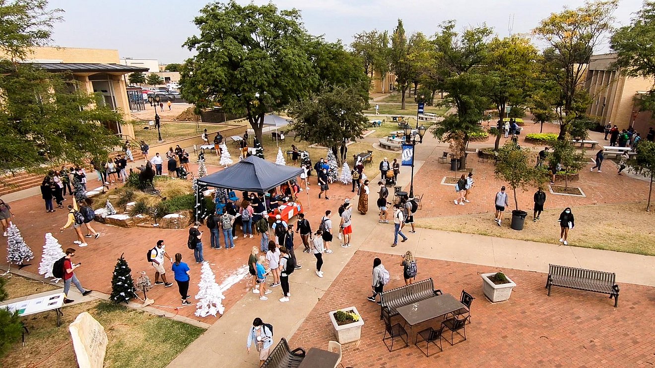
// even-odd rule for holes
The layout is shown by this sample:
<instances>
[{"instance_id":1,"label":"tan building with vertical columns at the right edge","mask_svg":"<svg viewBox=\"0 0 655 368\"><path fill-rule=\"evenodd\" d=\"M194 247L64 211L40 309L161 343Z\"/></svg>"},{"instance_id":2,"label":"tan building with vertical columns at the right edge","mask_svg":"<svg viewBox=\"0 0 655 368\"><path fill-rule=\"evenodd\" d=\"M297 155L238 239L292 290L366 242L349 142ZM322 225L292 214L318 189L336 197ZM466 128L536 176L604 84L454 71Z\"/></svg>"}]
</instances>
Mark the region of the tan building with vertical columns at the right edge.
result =
<instances>
[{"instance_id":1,"label":"tan building with vertical columns at the right edge","mask_svg":"<svg viewBox=\"0 0 655 368\"><path fill-rule=\"evenodd\" d=\"M645 133L652 126L652 114L640 112L635 97L650 90L654 81L622 75L614 65L616 59L616 54L594 55L589 59L585 89L591 97L591 105L587 114L598 116L601 125L610 122L619 129L633 126Z\"/></svg>"}]
</instances>

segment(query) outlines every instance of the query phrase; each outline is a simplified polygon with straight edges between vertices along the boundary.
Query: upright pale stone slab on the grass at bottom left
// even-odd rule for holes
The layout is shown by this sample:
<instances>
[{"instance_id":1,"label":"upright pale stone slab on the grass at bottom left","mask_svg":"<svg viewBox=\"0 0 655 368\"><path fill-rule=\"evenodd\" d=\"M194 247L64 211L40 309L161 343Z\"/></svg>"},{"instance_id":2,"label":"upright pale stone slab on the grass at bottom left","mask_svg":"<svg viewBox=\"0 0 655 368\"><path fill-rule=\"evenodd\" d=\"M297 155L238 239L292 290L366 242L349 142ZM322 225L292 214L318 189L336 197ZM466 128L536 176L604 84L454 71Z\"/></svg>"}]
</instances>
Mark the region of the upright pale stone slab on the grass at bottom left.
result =
<instances>
[{"instance_id":1,"label":"upright pale stone slab on the grass at bottom left","mask_svg":"<svg viewBox=\"0 0 655 368\"><path fill-rule=\"evenodd\" d=\"M105 327L88 312L82 312L68 326L80 368L102 368L107 350Z\"/></svg>"}]
</instances>

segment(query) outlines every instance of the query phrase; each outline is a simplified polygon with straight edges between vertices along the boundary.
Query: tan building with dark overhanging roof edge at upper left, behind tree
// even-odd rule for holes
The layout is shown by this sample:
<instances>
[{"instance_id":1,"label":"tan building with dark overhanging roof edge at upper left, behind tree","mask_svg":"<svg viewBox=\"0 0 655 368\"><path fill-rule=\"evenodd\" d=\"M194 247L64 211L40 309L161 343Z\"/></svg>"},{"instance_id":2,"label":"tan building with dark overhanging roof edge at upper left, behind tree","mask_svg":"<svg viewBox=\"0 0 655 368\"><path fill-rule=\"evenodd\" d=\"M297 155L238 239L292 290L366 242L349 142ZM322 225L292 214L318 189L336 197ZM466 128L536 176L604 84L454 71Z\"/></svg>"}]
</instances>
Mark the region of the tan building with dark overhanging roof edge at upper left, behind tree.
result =
<instances>
[{"instance_id":1,"label":"tan building with dark overhanging roof edge at upper left, behind tree","mask_svg":"<svg viewBox=\"0 0 655 368\"><path fill-rule=\"evenodd\" d=\"M105 105L121 112L126 122L132 120L126 75L147 71L144 67L121 65L118 50L98 48L39 47L35 48L24 62L37 63L51 73L71 73L73 79L79 82L76 88L87 93L102 93ZM107 129L115 134L134 139L132 124L105 124Z\"/></svg>"}]
</instances>

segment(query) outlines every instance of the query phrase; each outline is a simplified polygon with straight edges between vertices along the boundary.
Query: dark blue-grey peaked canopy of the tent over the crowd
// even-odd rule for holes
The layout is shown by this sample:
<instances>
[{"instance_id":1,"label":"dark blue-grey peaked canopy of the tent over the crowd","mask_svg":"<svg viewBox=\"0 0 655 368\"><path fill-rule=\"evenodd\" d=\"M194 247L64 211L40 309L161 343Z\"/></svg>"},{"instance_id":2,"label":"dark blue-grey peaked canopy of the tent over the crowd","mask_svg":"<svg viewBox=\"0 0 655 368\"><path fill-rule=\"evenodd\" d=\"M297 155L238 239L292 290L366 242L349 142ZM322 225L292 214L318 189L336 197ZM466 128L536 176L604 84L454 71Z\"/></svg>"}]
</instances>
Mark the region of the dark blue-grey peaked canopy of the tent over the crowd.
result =
<instances>
[{"instance_id":1,"label":"dark blue-grey peaked canopy of the tent over the crowd","mask_svg":"<svg viewBox=\"0 0 655 368\"><path fill-rule=\"evenodd\" d=\"M301 173L303 169L298 167L278 165L257 156L249 156L217 173L198 178L196 203L202 203L200 199L203 187L266 193L280 184L295 179ZM196 208L198 209L196 218L200 218L202 209Z\"/></svg>"}]
</instances>

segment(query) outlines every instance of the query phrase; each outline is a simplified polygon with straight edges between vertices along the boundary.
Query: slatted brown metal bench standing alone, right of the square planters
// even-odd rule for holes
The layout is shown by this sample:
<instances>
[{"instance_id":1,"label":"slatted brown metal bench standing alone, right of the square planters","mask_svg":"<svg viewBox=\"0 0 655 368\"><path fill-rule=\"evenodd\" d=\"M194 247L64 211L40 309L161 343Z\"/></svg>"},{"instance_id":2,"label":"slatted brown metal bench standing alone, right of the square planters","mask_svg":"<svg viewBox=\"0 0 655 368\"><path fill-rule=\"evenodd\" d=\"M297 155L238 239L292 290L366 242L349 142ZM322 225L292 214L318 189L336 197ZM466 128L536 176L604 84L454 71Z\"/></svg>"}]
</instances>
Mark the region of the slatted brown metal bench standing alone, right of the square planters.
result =
<instances>
[{"instance_id":1,"label":"slatted brown metal bench standing alone, right of the square planters","mask_svg":"<svg viewBox=\"0 0 655 368\"><path fill-rule=\"evenodd\" d=\"M614 308L616 308L618 307L619 288L615 278L615 273L548 265L546 288L548 288L548 296L550 296L551 286L609 294L610 299L614 298Z\"/></svg>"}]
</instances>

